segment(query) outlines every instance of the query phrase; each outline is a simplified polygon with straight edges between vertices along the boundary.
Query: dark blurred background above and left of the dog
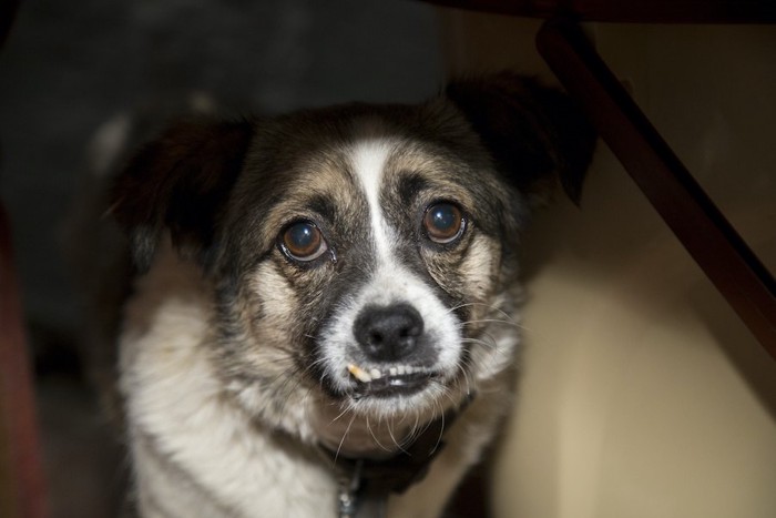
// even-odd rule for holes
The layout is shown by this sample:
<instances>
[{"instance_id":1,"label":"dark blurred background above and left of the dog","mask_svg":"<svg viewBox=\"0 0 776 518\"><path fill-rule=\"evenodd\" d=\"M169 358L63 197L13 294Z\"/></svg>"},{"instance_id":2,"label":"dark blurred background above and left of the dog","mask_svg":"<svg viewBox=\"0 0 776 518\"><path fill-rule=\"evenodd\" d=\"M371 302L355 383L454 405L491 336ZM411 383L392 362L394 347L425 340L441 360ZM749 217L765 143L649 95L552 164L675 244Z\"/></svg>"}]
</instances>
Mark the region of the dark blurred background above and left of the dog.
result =
<instances>
[{"instance_id":1,"label":"dark blurred background above and left of the dog","mask_svg":"<svg viewBox=\"0 0 776 518\"><path fill-rule=\"evenodd\" d=\"M192 95L226 115L413 102L443 79L432 8L408 0L25 0L0 53L0 199L10 213L53 516L111 516L125 466L75 351L83 294L65 232L100 128ZM91 252L90 252L91 253ZM100 253L99 251L95 253Z\"/></svg>"}]
</instances>

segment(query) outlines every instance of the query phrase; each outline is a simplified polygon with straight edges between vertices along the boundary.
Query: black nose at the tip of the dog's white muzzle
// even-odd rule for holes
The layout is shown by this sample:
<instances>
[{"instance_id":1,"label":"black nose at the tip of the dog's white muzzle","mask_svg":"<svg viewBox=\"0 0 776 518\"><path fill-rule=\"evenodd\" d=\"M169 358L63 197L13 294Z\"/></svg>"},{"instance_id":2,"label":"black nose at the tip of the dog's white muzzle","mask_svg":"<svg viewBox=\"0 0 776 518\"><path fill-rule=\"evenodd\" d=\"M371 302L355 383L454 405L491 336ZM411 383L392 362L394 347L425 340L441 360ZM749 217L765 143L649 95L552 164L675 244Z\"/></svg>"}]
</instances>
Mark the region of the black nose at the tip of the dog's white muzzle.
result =
<instances>
[{"instance_id":1,"label":"black nose at the tip of the dog's white muzzle","mask_svg":"<svg viewBox=\"0 0 776 518\"><path fill-rule=\"evenodd\" d=\"M423 319L408 304L367 306L356 318L353 332L369 358L392 362L415 351L423 333Z\"/></svg>"}]
</instances>

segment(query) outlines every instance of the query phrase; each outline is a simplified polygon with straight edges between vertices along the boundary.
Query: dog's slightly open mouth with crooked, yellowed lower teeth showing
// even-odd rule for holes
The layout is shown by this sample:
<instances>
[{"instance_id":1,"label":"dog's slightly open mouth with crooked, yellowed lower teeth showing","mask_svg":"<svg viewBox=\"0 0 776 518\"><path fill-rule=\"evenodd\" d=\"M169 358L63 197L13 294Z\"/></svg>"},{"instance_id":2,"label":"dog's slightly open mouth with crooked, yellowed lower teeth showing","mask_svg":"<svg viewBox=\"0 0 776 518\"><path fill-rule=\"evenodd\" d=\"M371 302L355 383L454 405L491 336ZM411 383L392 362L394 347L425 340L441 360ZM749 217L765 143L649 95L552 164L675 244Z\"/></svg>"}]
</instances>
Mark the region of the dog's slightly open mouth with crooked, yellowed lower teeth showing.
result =
<instances>
[{"instance_id":1,"label":"dog's slightly open mouth with crooked, yellowed lower teeth showing","mask_svg":"<svg viewBox=\"0 0 776 518\"><path fill-rule=\"evenodd\" d=\"M347 369L350 377L356 380L353 392L355 398L410 395L421 390L430 380L438 377L437 373L427 367L412 365L367 368L348 364Z\"/></svg>"}]
</instances>

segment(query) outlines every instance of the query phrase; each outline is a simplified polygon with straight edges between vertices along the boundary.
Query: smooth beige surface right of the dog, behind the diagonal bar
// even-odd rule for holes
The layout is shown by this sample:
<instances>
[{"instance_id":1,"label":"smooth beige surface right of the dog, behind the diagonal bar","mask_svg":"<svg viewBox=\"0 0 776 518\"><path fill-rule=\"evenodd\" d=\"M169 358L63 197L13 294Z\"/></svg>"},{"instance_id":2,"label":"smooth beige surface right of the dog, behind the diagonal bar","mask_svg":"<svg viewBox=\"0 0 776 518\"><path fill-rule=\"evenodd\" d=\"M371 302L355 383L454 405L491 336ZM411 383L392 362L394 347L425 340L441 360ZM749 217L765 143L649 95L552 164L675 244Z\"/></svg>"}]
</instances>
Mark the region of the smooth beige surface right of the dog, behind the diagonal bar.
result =
<instances>
[{"instance_id":1,"label":"smooth beige surface right of the dog, behind the diagonal bar","mask_svg":"<svg viewBox=\"0 0 776 518\"><path fill-rule=\"evenodd\" d=\"M530 20L440 10L451 73L551 81ZM586 27L602 57L776 272L776 28ZM581 207L525 244L520 397L500 517L776 516L776 362L600 143Z\"/></svg>"}]
</instances>

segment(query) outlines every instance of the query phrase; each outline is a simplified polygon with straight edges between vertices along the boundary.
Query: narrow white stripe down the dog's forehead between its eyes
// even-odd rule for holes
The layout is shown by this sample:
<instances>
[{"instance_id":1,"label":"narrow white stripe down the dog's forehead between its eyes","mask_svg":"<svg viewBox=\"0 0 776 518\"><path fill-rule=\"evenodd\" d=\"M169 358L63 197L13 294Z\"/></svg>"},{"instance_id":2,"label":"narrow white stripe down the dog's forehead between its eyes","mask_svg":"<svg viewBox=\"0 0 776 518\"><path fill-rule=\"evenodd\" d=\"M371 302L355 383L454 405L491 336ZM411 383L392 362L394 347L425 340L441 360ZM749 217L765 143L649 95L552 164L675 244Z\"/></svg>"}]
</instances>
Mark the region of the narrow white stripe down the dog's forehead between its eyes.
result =
<instances>
[{"instance_id":1,"label":"narrow white stripe down the dog's forehead between its eyes","mask_svg":"<svg viewBox=\"0 0 776 518\"><path fill-rule=\"evenodd\" d=\"M369 220L377 257L381 262L388 261L391 255L391 230L380 206L380 186L392 149L394 143L388 140L367 139L357 142L353 150L353 170L369 204Z\"/></svg>"}]
</instances>

